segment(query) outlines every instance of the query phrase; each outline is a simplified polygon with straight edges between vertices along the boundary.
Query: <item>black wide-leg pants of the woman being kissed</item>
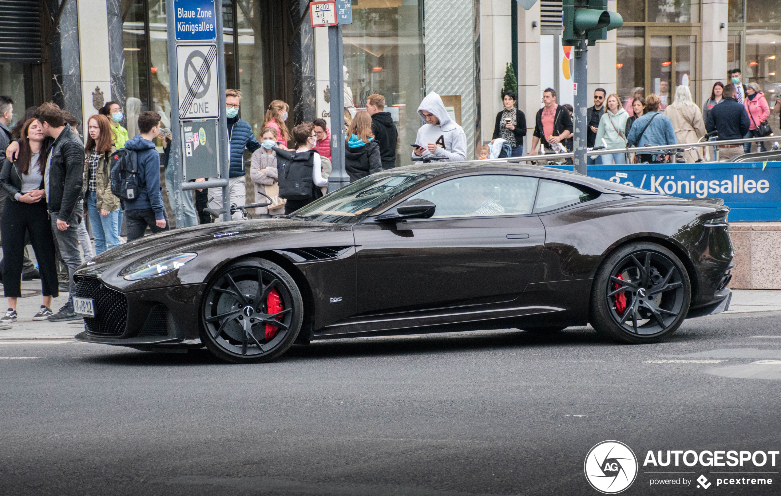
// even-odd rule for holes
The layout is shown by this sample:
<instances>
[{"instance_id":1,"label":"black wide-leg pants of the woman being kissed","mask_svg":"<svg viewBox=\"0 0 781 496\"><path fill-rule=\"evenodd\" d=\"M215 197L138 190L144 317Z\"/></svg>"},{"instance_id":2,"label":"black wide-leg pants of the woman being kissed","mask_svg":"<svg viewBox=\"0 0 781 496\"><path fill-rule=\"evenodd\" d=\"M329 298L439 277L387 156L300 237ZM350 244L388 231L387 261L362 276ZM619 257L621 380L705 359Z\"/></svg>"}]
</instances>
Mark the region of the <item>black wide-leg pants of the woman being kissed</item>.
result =
<instances>
[{"instance_id":1,"label":"black wide-leg pants of the woman being kissed","mask_svg":"<svg viewBox=\"0 0 781 496\"><path fill-rule=\"evenodd\" d=\"M54 236L49 225L46 202L24 203L5 199L0 230L3 238L3 284L6 297L22 296L22 263L24 233L30 234L35 258L41 270L41 290L44 296L59 296Z\"/></svg>"}]
</instances>

